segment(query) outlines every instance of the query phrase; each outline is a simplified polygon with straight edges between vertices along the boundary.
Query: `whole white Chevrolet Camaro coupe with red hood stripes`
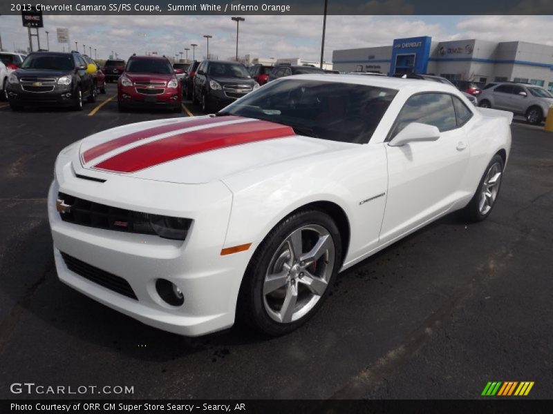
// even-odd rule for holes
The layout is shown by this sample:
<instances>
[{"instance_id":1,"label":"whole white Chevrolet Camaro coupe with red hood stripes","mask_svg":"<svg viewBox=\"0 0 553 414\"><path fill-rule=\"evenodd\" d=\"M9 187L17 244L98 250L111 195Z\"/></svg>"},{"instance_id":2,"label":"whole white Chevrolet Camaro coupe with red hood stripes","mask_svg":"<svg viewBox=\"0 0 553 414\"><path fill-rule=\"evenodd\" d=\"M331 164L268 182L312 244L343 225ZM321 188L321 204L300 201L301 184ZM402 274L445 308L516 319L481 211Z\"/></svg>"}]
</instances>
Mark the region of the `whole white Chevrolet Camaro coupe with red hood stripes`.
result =
<instances>
[{"instance_id":1,"label":"whole white Chevrolet Camaro coupe with red hood stripes","mask_svg":"<svg viewBox=\"0 0 553 414\"><path fill-rule=\"evenodd\" d=\"M339 271L454 210L485 219L511 121L441 83L299 75L99 132L55 164L59 279L181 335L288 333Z\"/></svg>"}]
</instances>

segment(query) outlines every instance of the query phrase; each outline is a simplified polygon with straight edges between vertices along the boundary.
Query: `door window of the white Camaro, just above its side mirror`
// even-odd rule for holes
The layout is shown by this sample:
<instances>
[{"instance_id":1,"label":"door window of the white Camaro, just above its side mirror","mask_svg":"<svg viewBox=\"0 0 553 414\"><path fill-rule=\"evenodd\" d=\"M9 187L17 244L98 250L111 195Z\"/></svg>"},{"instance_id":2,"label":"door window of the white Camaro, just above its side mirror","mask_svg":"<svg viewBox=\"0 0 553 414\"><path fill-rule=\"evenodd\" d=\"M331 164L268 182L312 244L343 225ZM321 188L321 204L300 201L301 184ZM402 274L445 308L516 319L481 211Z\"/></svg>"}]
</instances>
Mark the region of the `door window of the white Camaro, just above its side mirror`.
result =
<instances>
[{"instance_id":1,"label":"door window of the white Camaro, just above its side mirror","mask_svg":"<svg viewBox=\"0 0 553 414\"><path fill-rule=\"evenodd\" d=\"M436 126L440 132L457 128L457 117L451 95L422 93L407 99L400 115L397 115L392 137L411 122Z\"/></svg>"}]
</instances>

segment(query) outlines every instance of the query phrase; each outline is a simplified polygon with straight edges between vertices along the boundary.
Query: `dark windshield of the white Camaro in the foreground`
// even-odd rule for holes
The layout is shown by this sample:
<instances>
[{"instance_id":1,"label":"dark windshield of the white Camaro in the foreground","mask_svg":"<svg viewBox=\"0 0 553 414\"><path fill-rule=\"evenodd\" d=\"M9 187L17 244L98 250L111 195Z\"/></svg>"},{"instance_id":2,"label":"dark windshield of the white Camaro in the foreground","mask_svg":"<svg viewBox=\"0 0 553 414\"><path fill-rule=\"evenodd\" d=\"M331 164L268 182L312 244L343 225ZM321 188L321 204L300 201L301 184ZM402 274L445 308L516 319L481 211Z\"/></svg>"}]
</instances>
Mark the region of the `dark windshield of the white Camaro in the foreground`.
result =
<instances>
[{"instance_id":1,"label":"dark windshield of the white Camaro in the foreground","mask_svg":"<svg viewBox=\"0 0 553 414\"><path fill-rule=\"evenodd\" d=\"M376 86L284 78L230 104L222 115L277 122L308 137L366 144L396 93Z\"/></svg>"}]
</instances>

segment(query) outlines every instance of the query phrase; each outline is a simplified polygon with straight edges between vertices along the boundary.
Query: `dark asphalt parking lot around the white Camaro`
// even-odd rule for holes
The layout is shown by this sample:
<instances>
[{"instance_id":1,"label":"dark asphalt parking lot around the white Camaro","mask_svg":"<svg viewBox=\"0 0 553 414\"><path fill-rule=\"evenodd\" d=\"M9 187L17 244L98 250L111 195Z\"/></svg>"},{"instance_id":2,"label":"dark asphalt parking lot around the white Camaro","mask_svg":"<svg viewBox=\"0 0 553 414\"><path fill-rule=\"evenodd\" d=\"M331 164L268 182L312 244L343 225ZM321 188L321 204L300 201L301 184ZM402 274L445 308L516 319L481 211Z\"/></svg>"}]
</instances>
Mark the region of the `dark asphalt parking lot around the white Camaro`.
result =
<instances>
[{"instance_id":1,"label":"dark asphalt parking lot around the white Camaro","mask_svg":"<svg viewBox=\"0 0 553 414\"><path fill-rule=\"evenodd\" d=\"M493 213L450 215L339 276L325 306L276 339L235 327L179 337L57 280L46 193L59 150L134 121L114 86L83 112L0 103L0 397L13 382L134 386L131 398L475 398L488 381L553 389L553 133L515 122ZM104 103L99 109L102 103ZM62 397L62 396L58 396ZM106 397L106 395L82 395Z\"/></svg>"}]
</instances>

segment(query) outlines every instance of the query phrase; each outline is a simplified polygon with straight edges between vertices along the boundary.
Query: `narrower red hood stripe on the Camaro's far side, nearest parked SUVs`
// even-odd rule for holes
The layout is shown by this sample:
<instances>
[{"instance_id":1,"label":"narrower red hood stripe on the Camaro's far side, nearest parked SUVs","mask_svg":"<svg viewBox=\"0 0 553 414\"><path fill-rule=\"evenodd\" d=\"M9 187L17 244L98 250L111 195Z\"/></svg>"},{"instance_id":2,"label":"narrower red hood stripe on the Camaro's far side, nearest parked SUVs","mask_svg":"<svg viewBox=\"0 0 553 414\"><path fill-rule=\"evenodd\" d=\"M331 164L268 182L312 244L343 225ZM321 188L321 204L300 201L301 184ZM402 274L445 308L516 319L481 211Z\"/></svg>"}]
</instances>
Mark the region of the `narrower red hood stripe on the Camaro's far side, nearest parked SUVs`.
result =
<instances>
[{"instance_id":1,"label":"narrower red hood stripe on the Camaro's far side, nearest parked SUVs","mask_svg":"<svg viewBox=\"0 0 553 414\"><path fill-rule=\"evenodd\" d=\"M224 118L201 118L201 119L189 119L188 121L176 122L174 124L167 124L161 126L155 126L145 130L133 132L132 134L123 135L110 141L106 141L103 144L88 148L82 154L82 160L84 163L88 163L97 157L101 157L110 151L121 148L133 142L140 141L141 139L147 139L155 137L156 135L165 134L167 132L180 130L182 128L192 128L194 126L203 126L210 124L218 124L223 121L232 121L233 119L241 119L241 117L224 117Z\"/></svg>"}]
</instances>

